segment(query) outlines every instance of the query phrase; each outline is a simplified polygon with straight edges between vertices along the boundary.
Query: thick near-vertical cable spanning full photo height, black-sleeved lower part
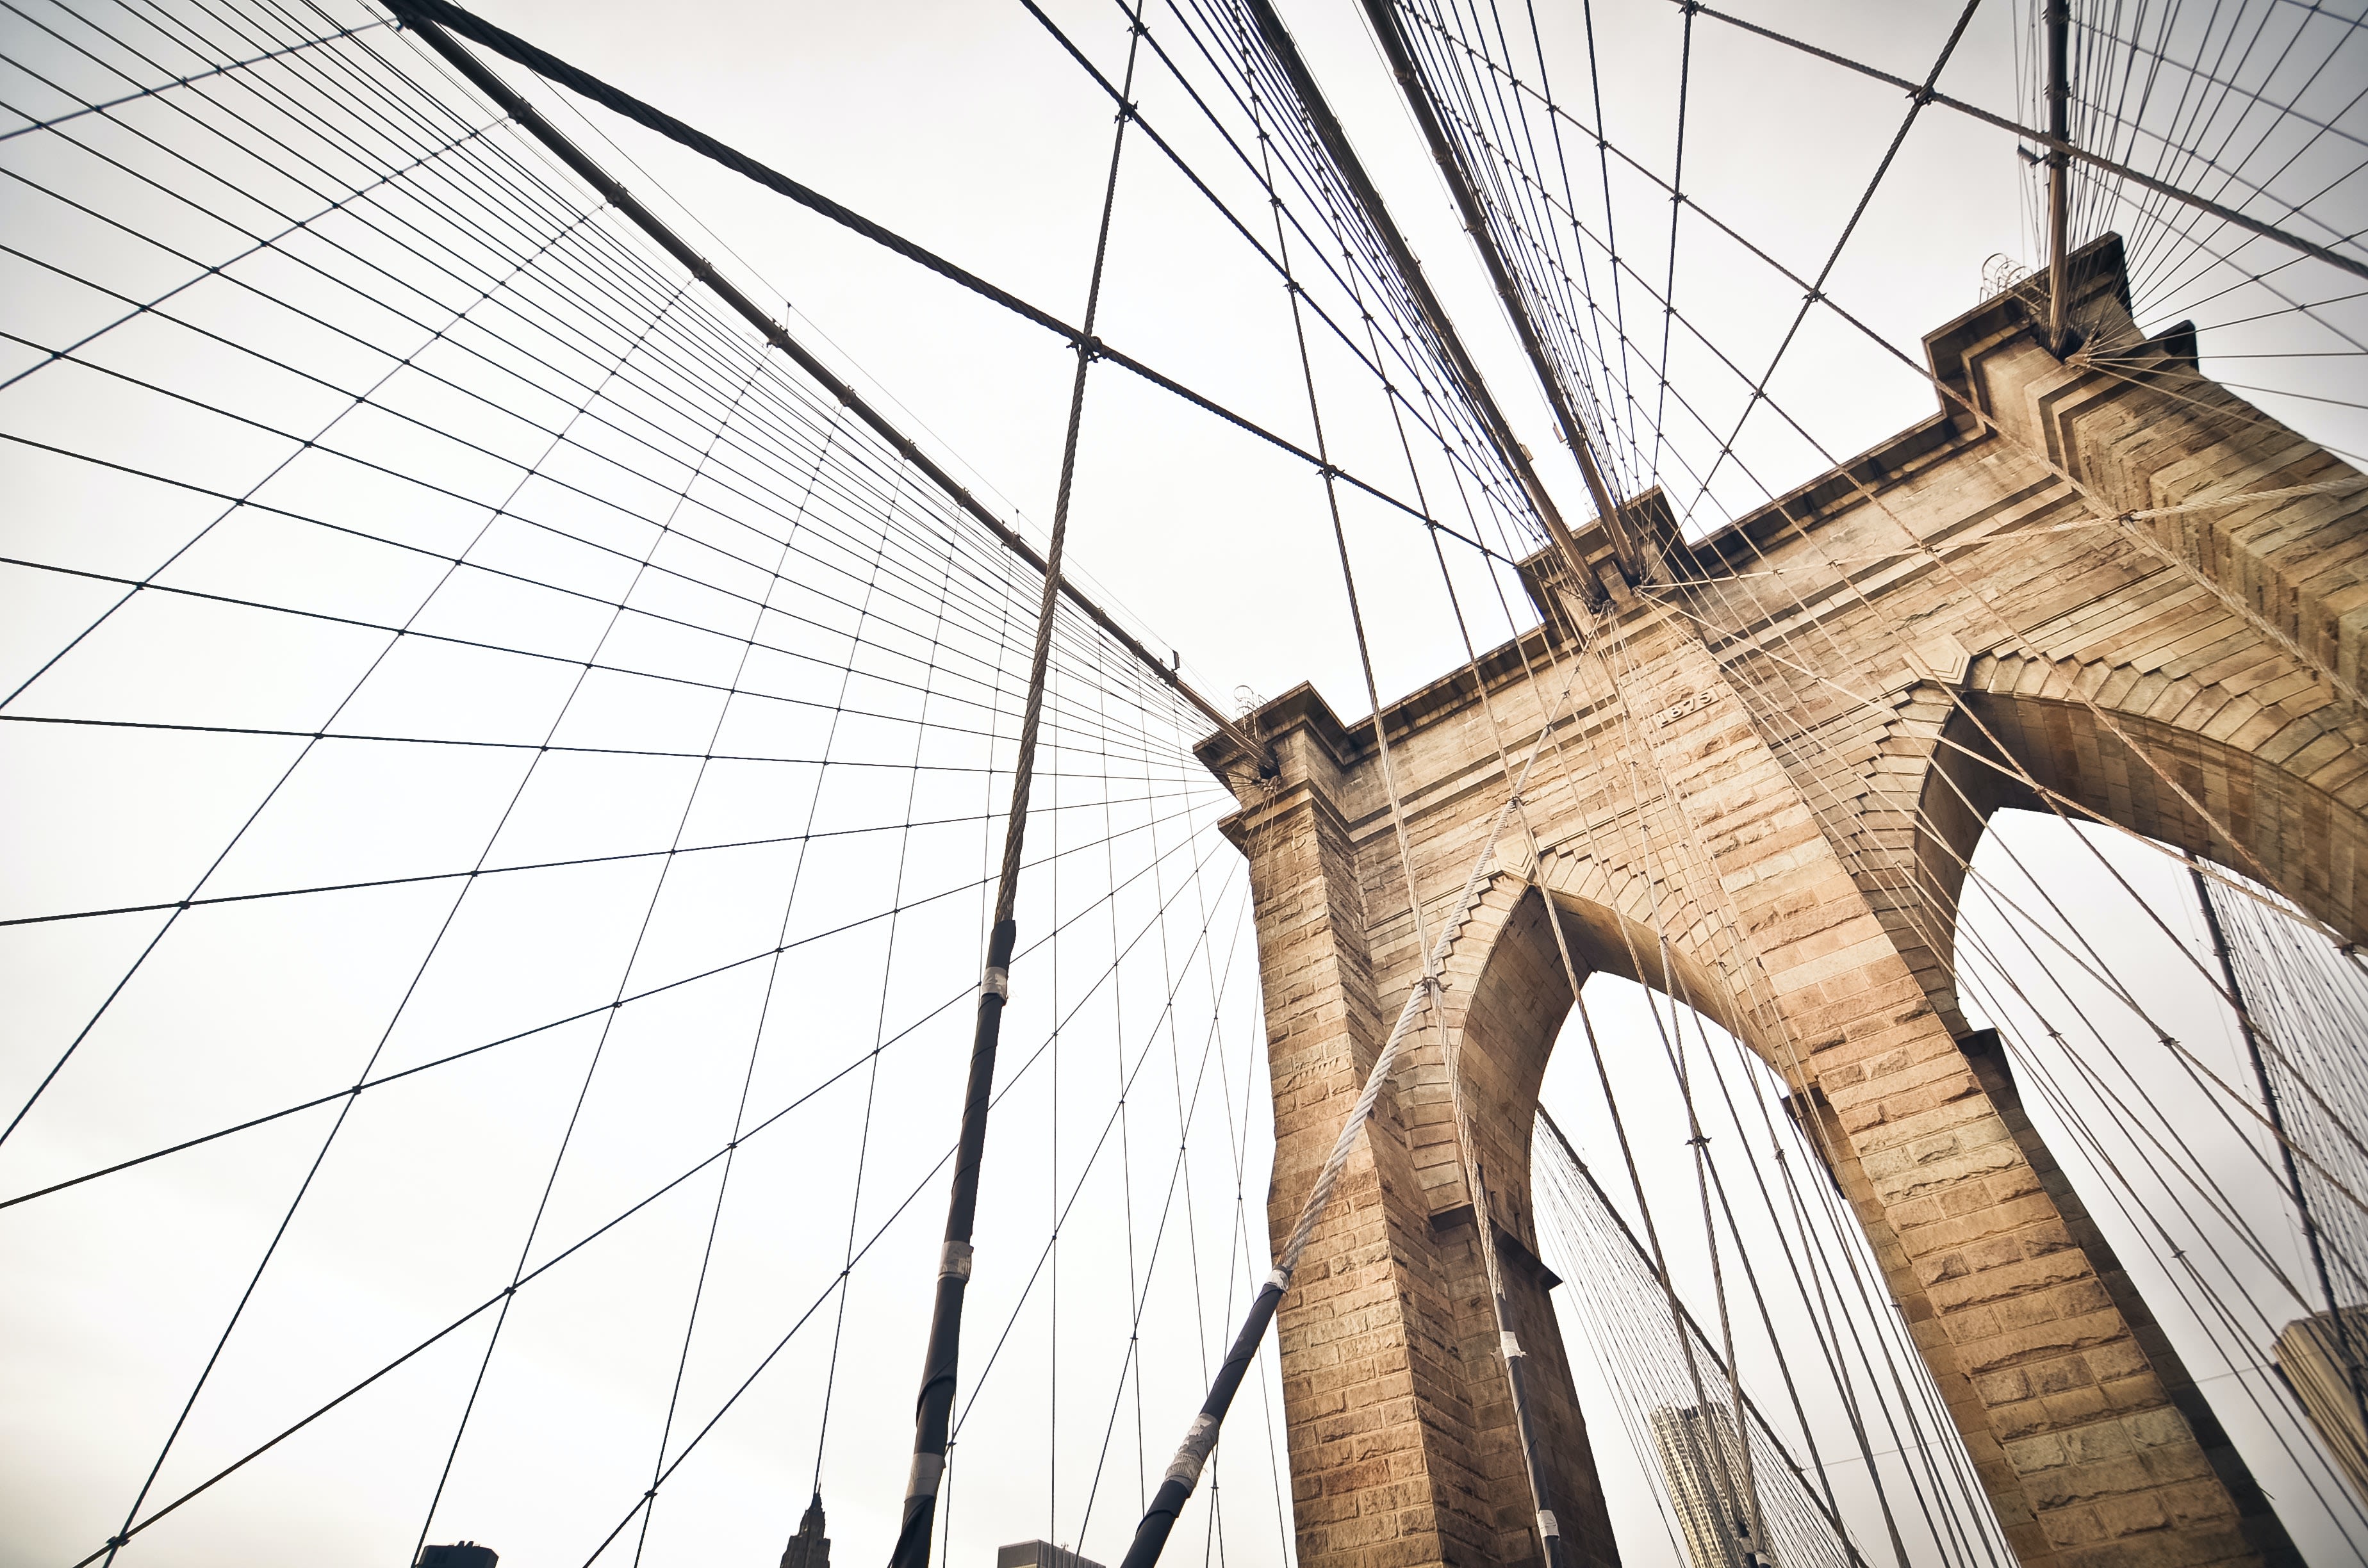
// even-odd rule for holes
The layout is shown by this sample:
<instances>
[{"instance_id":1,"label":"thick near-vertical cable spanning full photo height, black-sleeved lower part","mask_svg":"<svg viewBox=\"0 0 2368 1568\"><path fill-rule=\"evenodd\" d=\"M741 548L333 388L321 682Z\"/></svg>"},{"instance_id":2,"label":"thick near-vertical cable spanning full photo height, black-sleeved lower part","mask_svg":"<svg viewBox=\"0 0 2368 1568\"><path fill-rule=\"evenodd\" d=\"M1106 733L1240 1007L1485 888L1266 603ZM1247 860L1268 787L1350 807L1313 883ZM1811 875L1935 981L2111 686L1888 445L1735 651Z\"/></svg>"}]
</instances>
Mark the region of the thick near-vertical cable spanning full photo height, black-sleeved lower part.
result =
<instances>
[{"instance_id":1,"label":"thick near-vertical cable spanning full photo height, black-sleeved lower part","mask_svg":"<svg viewBox=\"0 0 2368 1568\"><path fill-rule=\"evenodd\" d=\"M1141 0L1127 33L1125 90L1134 90L1134 57L1141 47ZM1021 891L1021 846L1028 838L1028 793L1035 786L1037 730L1044 720L1044 675L1051 666L1051 628L1061 606L1061 547L1068 540L1068 500L1077 478L1077 429L1085 419L1085 372L1094 362L1094 315L1101 310L1101 275L1111 256L1111 211L1118 201L1118 159L1127 147L1134 104L1120 102L1111 135L1111 173L1101 187L1101 227L1094 234L1094 275L1085 291L1085 329L1077 339L1077 374L1068 388L1068 433L1061 441L1061 490L1044 545L1044 597L1037 604L1035 651L1028 658L1028 706L1021 711L1021 748L1011 770L1011 815L1004 822L1004 865L995 879L995 926L987 933L987 966L978 981L978 1026L971 1037L971 1078L961 1099L961 1142L954 1153L954 1191L945 1213L945 1251L938 1260L938 1303L928 1319L928 1355L914 1409L912 1471L905 1480L905 1523L897 1528L890 1568L928 1568L928 1542L938 1518L938 1478L945 1476L945 1442L954 1416L954 1369L961 1357L961 1298L971 1284L971 1225L978 1213L978 1168L987 1149L987 1106L995 1099L995 1047L1002 1042L1004 1002L1011 997L1011 947L1018 940L1014 907Z\"/></svg>"}]
</instances>

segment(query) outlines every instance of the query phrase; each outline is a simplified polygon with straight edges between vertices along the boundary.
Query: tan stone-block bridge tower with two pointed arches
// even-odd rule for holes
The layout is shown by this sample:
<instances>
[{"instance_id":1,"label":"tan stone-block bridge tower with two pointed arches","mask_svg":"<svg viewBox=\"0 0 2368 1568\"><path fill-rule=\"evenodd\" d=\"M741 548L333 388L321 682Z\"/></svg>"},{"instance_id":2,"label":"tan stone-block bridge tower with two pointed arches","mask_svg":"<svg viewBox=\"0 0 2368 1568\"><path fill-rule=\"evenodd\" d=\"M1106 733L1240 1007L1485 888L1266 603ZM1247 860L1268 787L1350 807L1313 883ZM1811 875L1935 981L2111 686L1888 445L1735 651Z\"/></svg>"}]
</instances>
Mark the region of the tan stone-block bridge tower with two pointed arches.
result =
<instances>
[{"instance_id":1,"label":"tan stone-block bridge tower with two pointed arches","mask_svg":"<svg viewBox=\"0 0 2368 1568\"><path fill-rule=\"evenodd\" d=\"M1444 1026L1572 1561L1615 1547L1530 1213L1572 1002L1546 900L1582 973L1679 992L1814 1116L2022 1563L2297 1561L2003 1063L1961 1045L1946 959L1984 820L2048 793L2368 938L2368 495L2292 495L2356 476L2202 379L2190 329L2141 339L2117 239L2077 261L2086 351L2041 346L2029 287L1980 306L1925 341L1961 400L1691 547L1684 585L1632 587L1584 531L1601 587L1530 561L1544 625L1378 715L1428 928L1461 921ZM2259 490L2287 495L2167 512ZM1501 841L1456 912L1508 786L1482 703L1520 758L1565 685L1539 853ZM1300 687L1257 725L1265 782L1203 760L1257 898L1281 1236L1421 955L1376 720ZM1537 1561L1444 1073L1418 1035L1281 1310L1307 1568Z\"/></svg>"}]
</instances>

